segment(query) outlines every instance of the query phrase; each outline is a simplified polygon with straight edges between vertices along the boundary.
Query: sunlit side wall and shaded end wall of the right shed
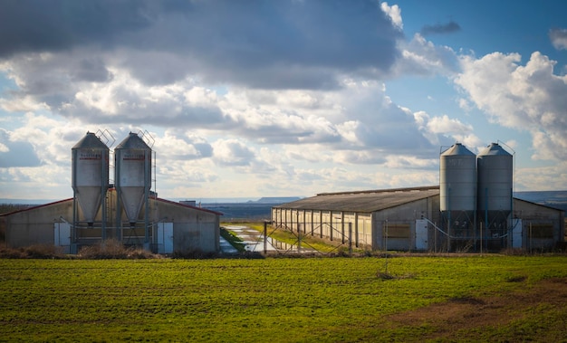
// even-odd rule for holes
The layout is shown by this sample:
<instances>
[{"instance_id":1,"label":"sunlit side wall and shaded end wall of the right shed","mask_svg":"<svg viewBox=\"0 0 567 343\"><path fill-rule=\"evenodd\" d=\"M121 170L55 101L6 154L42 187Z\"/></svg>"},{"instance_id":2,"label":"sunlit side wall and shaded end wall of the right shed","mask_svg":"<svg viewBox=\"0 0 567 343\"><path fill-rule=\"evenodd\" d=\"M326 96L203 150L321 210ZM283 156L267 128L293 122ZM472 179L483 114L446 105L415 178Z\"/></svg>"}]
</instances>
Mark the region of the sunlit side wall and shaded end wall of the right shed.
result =
<instances>
[{"instance_id":1,"label":"sunlit side wall and shaded end wall of the right shed","mask_svg":"<svg viewBox=\"0 0 567 343\"><path fill-rule=\"evenodd\" d=\"M281 207L272 209L274 225L293 231L297 231L299 227L305 234L333 241L342 240L344 233L348 242L348 227L351 224L351 239L354 245L372 250L416 249L416 220L422 218L429 221L428 251L478 252L481 249L483 242L480 233L468 234L466 240L454 238L449 241L447 233L442 232L441 228L439 195L371 214ZM525 251L553 249L557 243L564 241L565 217L561 210L514 199L514 218L522 219L521 246ZM502 246L493 250L500 251L512 247L512 236L513 234L508 234L502 239Z\"/></svg>"}]
</instances>

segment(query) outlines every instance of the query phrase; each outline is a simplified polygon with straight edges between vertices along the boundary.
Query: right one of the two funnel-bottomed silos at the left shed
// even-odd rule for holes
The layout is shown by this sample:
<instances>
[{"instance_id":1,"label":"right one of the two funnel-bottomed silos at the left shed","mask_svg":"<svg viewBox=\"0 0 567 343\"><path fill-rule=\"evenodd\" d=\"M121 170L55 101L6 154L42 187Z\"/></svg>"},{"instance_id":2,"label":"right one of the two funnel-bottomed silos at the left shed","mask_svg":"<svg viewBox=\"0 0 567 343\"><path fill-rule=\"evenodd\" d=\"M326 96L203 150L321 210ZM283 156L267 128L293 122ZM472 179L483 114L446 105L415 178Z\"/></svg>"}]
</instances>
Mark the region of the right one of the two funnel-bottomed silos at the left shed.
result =
<instances>
[{"instance_id":1,"label":"right one of the two funnel-bottomed silos at the left shed","mask_svg":"<svg viewBox=\"0 0 567 343\"><path fill-rule=\"evenodd\" d=\"M114 183L117 201L117 235L121 233L121 207L134 230L142 205L145 205L144 231L145 244L149 243L149 189L151 188L151 148L138 134L130 132L114 148Z\"/></svg>"}]
</instances>

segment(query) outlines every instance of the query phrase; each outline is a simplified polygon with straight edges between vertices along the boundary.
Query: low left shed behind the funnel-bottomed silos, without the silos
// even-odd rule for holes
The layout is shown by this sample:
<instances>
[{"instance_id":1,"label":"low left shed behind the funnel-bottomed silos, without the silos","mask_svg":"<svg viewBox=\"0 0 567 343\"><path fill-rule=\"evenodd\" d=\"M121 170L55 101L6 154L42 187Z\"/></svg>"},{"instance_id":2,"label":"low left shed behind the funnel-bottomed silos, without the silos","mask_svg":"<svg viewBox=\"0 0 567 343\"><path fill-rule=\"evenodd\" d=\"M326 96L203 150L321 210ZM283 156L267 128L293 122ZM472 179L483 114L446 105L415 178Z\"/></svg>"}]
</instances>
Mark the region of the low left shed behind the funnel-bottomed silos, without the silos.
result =
<instances>
[{"instance_id":1,"label":"low left shed behind the funnel-bottomed silos, without the silos","mask_svg":"<svg viewBox=\"0 0 567 343\"><path fill-rule=\"evenodd\" d=\"M78 252L83 245L117 239L127 246L144 247L152 252L217 252L219 250L220 213L184 205L157 197L149 197L149 230L144 223L120 228L116 225L115 189L107 192L108 214L104 229L101 213L94 224L72 228L73 199L39 205L9 214L0 214L0 231L5 245L18 248L33 244L54 244L63 252ZM82 216L81 206L76 206ZM122 221L127 221L121 214ZM142 207L141 215L145 216ZM148 242L147 244L145 244Z\"/></svg>"}]
</instances>

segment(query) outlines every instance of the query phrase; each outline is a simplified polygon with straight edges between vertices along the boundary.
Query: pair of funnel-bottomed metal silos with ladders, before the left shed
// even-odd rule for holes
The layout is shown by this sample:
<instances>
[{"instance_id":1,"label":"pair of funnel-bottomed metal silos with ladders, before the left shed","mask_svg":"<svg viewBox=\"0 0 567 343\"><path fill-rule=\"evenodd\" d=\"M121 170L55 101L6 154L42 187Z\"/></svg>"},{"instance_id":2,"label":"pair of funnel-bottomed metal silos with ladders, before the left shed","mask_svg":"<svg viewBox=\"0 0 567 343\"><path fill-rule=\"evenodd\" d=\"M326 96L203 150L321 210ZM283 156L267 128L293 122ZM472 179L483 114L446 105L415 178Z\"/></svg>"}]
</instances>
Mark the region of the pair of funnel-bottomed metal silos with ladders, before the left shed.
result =
<instances>
[{"instance_id":1,"label":"pair of funnel-bottomed metal silos with ladders, before the left shed","mask_svg":"<svg viewBox=\"0 0 567 343\"><path fill-rule=\"evenodd\" d=\"M151 188L151 156L149 145L142 135L131 133L114 148L114 187L116 201L116 238L121 240L122 210L133 227L139 221L143 205L148 207ZM110 184L110 148L95 133L87 132L72 147L73 228L101 227L104 240L109 220L107 192ZM77 211L81 207L82 217ZM101 221L97 215L101 212ZM149 211L145 211L148 226ZM96 225L95 225L96 224ZM75 234L76 237L76 234ZM148 233L146 230L146 241Z\"/></svg>"}]
</instances>

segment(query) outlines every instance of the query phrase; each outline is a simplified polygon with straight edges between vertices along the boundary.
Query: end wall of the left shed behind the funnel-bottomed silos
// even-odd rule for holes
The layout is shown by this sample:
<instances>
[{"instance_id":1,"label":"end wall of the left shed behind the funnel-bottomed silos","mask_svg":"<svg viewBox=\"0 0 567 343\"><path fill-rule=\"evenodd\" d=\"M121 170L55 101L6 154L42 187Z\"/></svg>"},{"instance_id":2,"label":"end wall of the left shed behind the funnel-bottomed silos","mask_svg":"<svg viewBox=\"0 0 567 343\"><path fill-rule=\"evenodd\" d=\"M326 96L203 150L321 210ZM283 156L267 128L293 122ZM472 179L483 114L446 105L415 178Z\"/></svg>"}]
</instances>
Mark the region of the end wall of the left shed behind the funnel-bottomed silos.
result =
<instances>
[{"instance_id":1,"label":"end wall of the left shed behind the funnel-bottomed silos","mask_svg":"<svg viewBox=\"0 0 567 343\"><path fill-rule=\"evenodd\" d=\"M114 193L114 192L112 192ZM110 204L115 196L109 196ZM110 205L110 208L113 208ZM77 248L82 245L101 242L101 213L97 215L97 223L89 228L81 223L82 213L77 205L77 221L79 228L75 230ZM54 225L57 223L73 222L72 199L61 202L41 205L14 214L0 216L0 225L5 231L5 245L19 248L33 244L54 244ZM107 215L106 238L118 236L114 211ZM122 242L128 245L141 245L145 239L143 218L145 211L139 215L142 223L136 227L123 227L121 230ZM214 212L202 210L193 206L181 205L165 200L149 201L149 224L158 222L173 223L174 252L218 252L220 235L220 216ZM149 242L157 243L154 237L155 227L149 229Z\"/></svg>"}]
</instances>

